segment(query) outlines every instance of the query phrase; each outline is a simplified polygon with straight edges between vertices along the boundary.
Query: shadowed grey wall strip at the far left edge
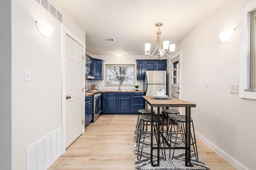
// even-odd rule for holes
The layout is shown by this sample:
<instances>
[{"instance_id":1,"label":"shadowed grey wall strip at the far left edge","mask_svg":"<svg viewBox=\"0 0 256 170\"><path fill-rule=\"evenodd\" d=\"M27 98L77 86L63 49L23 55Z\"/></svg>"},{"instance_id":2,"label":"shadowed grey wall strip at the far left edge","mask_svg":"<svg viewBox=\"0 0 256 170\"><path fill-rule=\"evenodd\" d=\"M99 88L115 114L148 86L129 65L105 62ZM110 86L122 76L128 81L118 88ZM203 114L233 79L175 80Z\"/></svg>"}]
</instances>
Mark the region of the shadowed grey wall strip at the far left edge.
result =
<instances>
[{"instance_id":1,"label":"shadowed grey wall strip at the far left edge","mask_svg":"<svg viewBox=\"0 0 256 170\"><path fill-rule=\"evenodd\" d=\"M0 1L0 169L11 164L11 1ZM4 23L4 24L3 24Z\"/></svg>"}]
</instances>

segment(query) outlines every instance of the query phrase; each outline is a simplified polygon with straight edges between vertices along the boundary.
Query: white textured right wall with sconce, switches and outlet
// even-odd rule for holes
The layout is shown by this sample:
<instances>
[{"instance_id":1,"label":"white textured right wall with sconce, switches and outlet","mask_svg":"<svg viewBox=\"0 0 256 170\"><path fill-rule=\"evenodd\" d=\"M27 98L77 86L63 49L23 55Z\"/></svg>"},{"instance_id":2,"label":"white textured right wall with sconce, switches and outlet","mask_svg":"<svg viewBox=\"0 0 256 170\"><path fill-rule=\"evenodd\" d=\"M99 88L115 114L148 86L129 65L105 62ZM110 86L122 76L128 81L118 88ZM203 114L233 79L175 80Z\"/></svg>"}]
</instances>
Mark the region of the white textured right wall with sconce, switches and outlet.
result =
<instances>
[{"instance_id":1,"label":"white textured right wall with sconce, switches and outlet","mask_svg":"<svg viewBox=\"0 0 256 170\"><path fill-rule=\"evenodd\" d=\"M256 101L230 93L230 84L239 84L239 10L251 1L227 0L184 37L176 51L182 51L181 99L196 103L192 117L198 137L236 169L252 170ZM220 43L218 33L228 28L236 29L233 38Z\"/></svg>"}]
</instances>

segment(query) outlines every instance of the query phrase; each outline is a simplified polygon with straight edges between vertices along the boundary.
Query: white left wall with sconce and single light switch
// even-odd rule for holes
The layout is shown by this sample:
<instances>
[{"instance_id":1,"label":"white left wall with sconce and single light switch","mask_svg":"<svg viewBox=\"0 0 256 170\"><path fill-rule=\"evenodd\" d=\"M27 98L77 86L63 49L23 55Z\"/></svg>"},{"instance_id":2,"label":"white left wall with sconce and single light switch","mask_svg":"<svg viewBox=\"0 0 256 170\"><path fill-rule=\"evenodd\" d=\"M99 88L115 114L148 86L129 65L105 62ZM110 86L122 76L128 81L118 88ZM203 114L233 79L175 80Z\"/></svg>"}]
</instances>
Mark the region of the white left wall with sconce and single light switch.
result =
<instances>
[{"instance_id":1,"label":"white left wall with sconce and single light switch","mask_svg":"<svg viewBox=\"0 0 256 170\"><path fill-rule=\"evenodd\" d=\"M38 32L36 20L54 27L52 37ZM85 42L70 16L63 20ZM12 0L12 169L26 169L26 147L61 127L61 64L61 23L33 0ZM24 81L24 70L31 81Z\"/></svg>"}]
</instances>

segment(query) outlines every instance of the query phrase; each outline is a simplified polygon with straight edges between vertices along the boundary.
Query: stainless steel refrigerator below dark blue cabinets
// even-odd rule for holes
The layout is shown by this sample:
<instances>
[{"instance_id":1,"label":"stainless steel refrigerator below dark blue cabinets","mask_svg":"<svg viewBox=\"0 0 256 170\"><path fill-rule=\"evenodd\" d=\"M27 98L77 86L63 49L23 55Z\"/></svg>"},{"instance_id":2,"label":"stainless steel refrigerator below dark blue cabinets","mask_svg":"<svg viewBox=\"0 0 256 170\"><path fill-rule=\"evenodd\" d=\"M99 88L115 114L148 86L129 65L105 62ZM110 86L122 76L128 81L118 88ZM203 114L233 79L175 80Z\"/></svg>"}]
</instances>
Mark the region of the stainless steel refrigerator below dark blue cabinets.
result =
<instances>
[{"instance_id":1,"label":"stainless steel refrigerator below dark blue cabinets","mask_svg":"<svg viewBox=\"0 0 256 170\"><path fill-rule=\"evenodd\" d=\"M144 90L146 96L154 96L156 90L166 90L166 87L166 71L145 71ZM151 107L148 105L146 108L150 109ZM154 108L154 111L157 113L156 108ZM160 109L161 112L162 109Z\"/></svg>"}]
</instances>

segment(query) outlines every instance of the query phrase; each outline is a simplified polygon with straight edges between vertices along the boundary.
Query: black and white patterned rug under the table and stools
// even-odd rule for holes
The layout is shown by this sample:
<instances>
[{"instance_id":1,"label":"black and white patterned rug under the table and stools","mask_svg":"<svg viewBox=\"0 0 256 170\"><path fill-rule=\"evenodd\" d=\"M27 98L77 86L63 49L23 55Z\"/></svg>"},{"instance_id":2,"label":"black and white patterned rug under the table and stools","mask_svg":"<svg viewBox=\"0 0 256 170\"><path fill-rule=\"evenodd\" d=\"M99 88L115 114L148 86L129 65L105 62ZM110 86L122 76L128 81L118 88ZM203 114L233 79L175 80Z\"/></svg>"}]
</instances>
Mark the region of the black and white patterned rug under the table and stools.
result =
<instances>
[{"instance_id":1,"label":"black and white patterned rug under the table and stools","mask_svg":"<svg viewBox=\"0 0 256 170\"><path fill-rule=\"evenodd\" d=\"M145 142L150 143L150 134L146 135L145 139ZM181 138L178 140L181 141ZM154 141L156 140L153 138L153 143ZM198 157L199 160L196 161L195 153L193 151L191 151L191 162L193 164L192 167L185 166L184 149L176 149L174 152L174 158L172 158L172 152L173 150L171 150L171 153L170 150L166 150L166 160L164 160L163 154L160 150L160 166L153 167L150 163L150 145L144 145L141 159L138 160L138 147L136 145L136 135L134 133L134 159L136 170L210 170L208 166L204 164L201 158ZM157 150L153 150L153 155L153 162L156 164ZM169 155L171 155L171 158L169 158Z\"/></svg>"}]
</instances>

